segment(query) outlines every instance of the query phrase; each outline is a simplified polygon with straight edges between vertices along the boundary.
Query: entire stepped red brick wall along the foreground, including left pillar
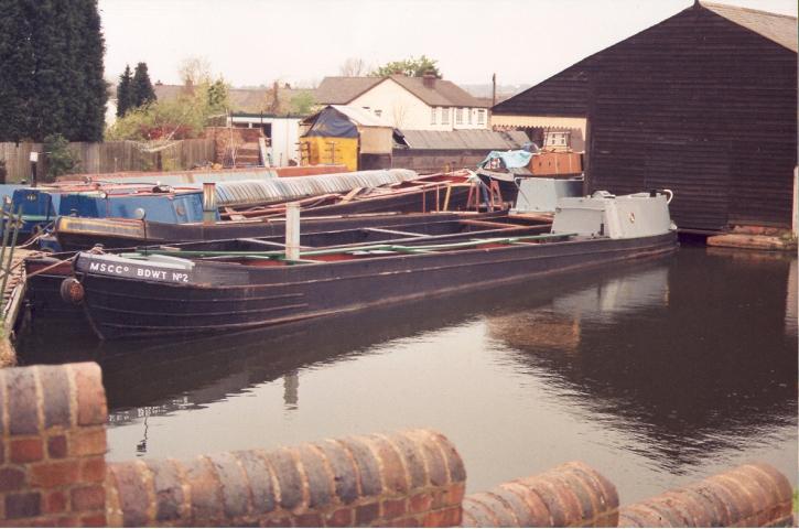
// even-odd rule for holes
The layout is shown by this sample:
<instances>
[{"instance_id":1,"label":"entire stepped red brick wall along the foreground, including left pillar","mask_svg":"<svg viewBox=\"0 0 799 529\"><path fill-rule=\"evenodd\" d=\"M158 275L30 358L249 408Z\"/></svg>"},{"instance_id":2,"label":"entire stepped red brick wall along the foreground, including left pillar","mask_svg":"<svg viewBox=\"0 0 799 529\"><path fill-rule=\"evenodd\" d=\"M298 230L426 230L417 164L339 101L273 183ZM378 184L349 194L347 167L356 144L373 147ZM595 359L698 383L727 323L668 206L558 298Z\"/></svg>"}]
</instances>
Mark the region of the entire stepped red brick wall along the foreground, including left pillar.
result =
<instances>
[{"instance_id":1,"label":"entire stepped red brick wall along the foreground, including left pillar","mask_svg":"<svg viewBox=\"0 0 799 529\"><path fill-rule=\"evenodd\" d=\"M0 369L0 526L790 526L791 487L744 465L618 508L583 463L464 497L453 444L431 430L185 461L106 464L96 364Z\"/></svg>"}]
</instances>

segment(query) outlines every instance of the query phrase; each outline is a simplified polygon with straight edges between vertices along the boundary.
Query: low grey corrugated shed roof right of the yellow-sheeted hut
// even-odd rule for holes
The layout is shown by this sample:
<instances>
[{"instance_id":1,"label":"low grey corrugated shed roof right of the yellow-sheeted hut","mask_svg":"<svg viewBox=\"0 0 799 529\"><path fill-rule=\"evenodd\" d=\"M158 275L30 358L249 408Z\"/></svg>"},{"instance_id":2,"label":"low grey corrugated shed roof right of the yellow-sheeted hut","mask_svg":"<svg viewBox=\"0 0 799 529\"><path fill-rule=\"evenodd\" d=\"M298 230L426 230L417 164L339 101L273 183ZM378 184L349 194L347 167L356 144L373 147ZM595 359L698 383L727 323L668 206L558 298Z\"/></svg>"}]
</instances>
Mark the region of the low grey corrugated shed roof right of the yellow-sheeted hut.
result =
<instances>
[{"instance_id":1,"label":"low grey corrugated shed roof right of the yellow-sheeted hut","mask_svg":"<svg viewBox=\"0 0 799 529\"><path fill-rule=\"evenodd\" d=\"M401 130L408 147L419 150L482 150L519 149L530 141L520 130Z\"/></svg>"}]
</instances>

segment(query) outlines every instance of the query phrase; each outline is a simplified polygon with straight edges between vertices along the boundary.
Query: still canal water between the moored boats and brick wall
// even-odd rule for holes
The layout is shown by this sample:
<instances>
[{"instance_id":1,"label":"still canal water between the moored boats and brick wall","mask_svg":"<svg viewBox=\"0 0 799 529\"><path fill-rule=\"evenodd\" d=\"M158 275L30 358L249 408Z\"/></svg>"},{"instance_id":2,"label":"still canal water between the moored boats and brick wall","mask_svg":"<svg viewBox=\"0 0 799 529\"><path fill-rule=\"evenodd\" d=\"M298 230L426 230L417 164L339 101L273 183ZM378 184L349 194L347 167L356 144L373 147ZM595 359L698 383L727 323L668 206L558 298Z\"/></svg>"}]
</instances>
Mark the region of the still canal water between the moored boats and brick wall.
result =
<instances>
[{"instance_id":1,"label":"still canal water between the moored boats and brick wall","mask_svg":"<svg viewBox=\"0 0 799 529\"><path fill-rule=\"evenodd\" d=\"M683 246L194 342L34 322L19 348L102 365L112 461L427 427L455 443L471 492L580 460L630 503L748 461L796 487L797 289L796 258Z\"/></svg>"}]
</instances>

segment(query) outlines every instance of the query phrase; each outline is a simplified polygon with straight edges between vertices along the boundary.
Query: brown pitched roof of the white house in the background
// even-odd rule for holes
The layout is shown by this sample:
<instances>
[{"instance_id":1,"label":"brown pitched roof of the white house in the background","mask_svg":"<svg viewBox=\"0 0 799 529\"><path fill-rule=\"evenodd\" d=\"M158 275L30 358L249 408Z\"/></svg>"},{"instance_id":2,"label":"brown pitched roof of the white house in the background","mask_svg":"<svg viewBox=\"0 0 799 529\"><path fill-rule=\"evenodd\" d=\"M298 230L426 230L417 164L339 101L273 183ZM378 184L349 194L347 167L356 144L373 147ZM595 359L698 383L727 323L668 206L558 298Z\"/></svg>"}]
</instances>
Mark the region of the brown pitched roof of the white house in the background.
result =
<instances>
[{"instance_id":1,"label":"brown pitched roof of the white house in the background","mask_svg":"<svg viewBox=\"0 0 799 529\"><path fill-rule=\"evenodd\" d=\"M370 90L386 79L391 79L431 107L472 107L488 108L481 100L451 80L430 79L432 86L424 84L423 77L392 75L390 77L325 77L316 88L316 100L325 105L346 105Z\"/></svg>"}]
</instances>

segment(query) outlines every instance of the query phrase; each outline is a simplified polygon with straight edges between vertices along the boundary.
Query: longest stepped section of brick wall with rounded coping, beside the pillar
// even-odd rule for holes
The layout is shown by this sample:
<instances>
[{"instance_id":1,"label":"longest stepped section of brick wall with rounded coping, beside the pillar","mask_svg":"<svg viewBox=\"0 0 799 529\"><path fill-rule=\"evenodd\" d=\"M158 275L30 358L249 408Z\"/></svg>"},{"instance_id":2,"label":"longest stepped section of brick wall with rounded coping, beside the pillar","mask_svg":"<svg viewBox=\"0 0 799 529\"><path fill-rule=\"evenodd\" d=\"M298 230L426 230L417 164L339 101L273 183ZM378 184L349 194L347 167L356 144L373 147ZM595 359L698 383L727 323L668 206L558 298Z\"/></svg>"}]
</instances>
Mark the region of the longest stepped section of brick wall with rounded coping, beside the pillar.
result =
<instances>
[{"instance_id":1,"label":"longest stepped section of brick wall with rounded coping, beside the pillar","mask_svg":"<svg viewBox=\"0 0 799 529\"><path fill-rule=\"evenodd\" d=\"M452 443L429 430L108 471L112 526L452 527L466 479Z\"/></svg>"}]
</instances>

